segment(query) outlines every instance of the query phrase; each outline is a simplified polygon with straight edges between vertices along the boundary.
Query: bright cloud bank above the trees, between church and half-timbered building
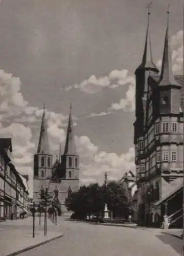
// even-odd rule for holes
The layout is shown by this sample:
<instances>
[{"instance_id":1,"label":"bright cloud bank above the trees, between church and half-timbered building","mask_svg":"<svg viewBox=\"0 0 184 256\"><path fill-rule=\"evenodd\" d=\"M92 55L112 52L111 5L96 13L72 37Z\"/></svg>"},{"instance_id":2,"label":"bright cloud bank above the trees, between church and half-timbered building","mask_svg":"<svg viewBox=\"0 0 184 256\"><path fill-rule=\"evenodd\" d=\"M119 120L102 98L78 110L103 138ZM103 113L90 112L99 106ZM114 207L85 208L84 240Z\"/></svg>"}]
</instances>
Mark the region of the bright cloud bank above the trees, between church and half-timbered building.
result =
<instances>
[{"instance_id":1,"label":"bright cloud bank above the trees, between church and half-timbered building","mask_svg":"<svg viewBox=\"0 0 184 256\"><path fill-rule=\"evenodd\" d=\"M124 172L134 172L134 148L129 148L125 154L117 155L101 151L97 145L91 143L86 136L76 136L76 146L80 155L80 174L82 179L104 180L104 173L113 176L115 180L121 178ZM91 181L92 182L92 181Z\"/></svg>"}]
</instances>

